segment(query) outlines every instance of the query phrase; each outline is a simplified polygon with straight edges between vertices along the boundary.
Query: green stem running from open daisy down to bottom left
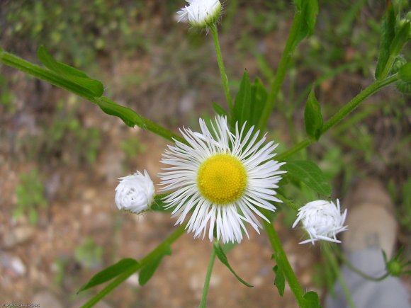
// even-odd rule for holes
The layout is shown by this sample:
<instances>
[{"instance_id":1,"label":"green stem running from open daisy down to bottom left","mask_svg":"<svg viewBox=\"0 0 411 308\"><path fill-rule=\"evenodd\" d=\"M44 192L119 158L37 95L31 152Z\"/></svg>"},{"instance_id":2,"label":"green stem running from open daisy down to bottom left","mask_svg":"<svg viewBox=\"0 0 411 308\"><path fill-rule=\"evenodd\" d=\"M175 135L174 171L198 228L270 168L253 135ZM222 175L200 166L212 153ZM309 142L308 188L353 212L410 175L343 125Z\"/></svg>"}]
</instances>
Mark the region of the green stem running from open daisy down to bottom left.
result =
<instances>
[{"instance_id":1,"label":"green stem running from open daisy down to bottom left","mask_svg":"<svg viewBox=\"0 0 411 308\"><path fill-rule=\"evenodd\" d=\"M179 237L185 232L186 225L183 224L181 225L178 229L176 229L167 239L162 241L159 246L157 246L155 249L153 249L147 256L142 258L135 266L130 268L127 272L121 274L113 280L109 285L107 285L103 290L98 292L94 297L91 297L91 299L86 302L81 308L89 308L93 307L94 304L99 302L103 297L108 295L111 291L113 291L118 285L123 283L125 280L127 280L131 275L133 275L137 270L140 270L140 268L144 267L147 265L147 263L150 263L151 260L154 258L157 258L164 249L167 249L168 246L170 246L176 239L179 239Z\"/></svg>"}]
</instances>

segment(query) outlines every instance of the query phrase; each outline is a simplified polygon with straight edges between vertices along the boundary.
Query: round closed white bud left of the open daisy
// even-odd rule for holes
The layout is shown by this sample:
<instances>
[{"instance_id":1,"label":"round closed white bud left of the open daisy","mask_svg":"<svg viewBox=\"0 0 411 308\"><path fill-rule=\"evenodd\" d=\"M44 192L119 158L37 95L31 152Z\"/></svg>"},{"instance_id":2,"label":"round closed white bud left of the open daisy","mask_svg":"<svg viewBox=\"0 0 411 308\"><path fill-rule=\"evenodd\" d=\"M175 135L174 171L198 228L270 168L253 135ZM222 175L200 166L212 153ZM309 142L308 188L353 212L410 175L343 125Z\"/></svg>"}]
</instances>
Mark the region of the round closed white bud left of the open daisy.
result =
<instances>
[{"instance_id":1,"label":"round closed white bud left of the open daisy","mask_svg":"<svg viewBox=\"0 0 411 308\"><path fill-rule=\"evenodd\" d=\"M119 178L116 187L116 205L118 210L140 213L149 209L154 200L154 183L147 171L140 171Z\"/></svg>"}]
</instances>

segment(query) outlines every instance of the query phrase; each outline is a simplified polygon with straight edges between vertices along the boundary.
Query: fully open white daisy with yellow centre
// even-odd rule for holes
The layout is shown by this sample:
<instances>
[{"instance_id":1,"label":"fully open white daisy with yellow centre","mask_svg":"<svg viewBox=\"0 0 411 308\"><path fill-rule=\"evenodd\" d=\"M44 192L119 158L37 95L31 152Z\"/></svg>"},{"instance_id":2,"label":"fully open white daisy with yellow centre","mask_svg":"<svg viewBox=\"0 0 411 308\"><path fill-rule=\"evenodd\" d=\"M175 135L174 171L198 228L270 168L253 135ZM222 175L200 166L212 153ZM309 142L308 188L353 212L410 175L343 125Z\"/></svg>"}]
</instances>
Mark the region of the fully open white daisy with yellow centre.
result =
<instances>
[{"instance_id":1,"label":"fully open white daisy with yellow centre","mask_svg":"<svg viewBox=\"0 0 411 308\"><path fill-rule=\"evenodd\" d=\"M175 207L176 224L182 224L193 210L186 229L194 237L203 232L204 238L209 223L210 241L215 228L218 240L240 243L243 231L249 237L244 222L259 233L256 215L268 221L260 209L274 212L271 202L281 202L274 195L279 174L286 172L279 171L285 163L273 160L278 144L264 145L266 137L259 139L254 127L244 132L245 124L240 130L237 122L232 134L223 117L215 118L211 129L200 119L200 127L201 133L180 130L188 145L176 141L163 154L162 163L168 167L159 173L162 190L176 189L164 201Z\"/></svg>"}]
</instances>

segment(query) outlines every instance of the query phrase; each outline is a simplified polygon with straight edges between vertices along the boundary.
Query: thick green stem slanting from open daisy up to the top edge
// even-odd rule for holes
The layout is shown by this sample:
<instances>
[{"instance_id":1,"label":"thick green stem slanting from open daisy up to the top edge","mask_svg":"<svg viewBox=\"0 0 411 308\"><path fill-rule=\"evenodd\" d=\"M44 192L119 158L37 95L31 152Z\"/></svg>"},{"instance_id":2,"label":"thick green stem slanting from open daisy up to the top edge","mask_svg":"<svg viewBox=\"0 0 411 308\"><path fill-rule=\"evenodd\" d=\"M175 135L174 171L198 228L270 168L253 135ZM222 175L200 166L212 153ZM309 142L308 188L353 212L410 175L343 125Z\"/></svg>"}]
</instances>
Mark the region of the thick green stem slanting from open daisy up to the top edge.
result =
<instances>
[{"instance_id":1,"label":"thick green stem slanting from open daisy up to the top edge","mask_svg":"<svg viewBox=\"0 0 411 308\"><path fill-rule=\"evenodd\" d=\"M286 46L284 47L283 54L281 55L280 62L278 63L276 75L271 82L269 96L267 98L266 104L264 105L264 111L260 118L259 129L261 132L264 132L264 130L266 129L267 122L269 121L269 116L271 115L271 111L274 109L274 105L276 104L278 92L280 91L284 78L286 77L288 64L293 57L295 46L297 45L295 44L295 41L297 40L298 30L300 29L301 22L301 13L300 11L296 11L293 19L293 24L291 25L290 34L287 38Z\"/></svg>"}]
</instances>

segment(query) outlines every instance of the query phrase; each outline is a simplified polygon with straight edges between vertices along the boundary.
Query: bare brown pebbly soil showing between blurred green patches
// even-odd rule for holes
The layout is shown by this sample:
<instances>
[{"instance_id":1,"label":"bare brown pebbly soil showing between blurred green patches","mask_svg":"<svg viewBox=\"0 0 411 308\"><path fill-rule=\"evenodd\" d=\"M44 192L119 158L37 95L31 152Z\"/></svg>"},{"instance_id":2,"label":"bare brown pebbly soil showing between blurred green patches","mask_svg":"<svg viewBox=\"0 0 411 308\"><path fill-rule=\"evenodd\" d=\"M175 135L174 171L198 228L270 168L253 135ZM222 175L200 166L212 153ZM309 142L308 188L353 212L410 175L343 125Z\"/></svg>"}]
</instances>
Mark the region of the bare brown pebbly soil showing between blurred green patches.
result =
<instances>
[{"instance_id":1,"label":"bare brown pebbly soil showing between blurred green patches","mask_svg":"<svg viewBox=\"0 0 411 308\"><path fill-rule=\"evenodd\" d=\"M151 28L145 27L152 33L164 33L164 28L170 23L154 18ZM235 25L238 23L240 21L235 21ZM164 44L175 46L174 50L166 50L164 45L154 45L150 53L133 58L119 52L111 55L101 53L98 55L99 70L91 67L90 74L96 74L103 81L107 95L115 101L176 131L176 127L182 125L195 127L198 116L213 114L209 103L224 101L224 96L220 91L215 59L208 57L213 54L210 36L206 37L208 42L197 50L198 56L204 59L200 63L188 55L189 46L185 40L187 29L181 25L174 26L179 29L171 30L172 34L164 38L167 41ZM281 20L274 33L261 37L257 35L259 48L264 50L268 62L274 67L289 26L290 21ZM233 45L240 37L239 33L234 33L221 37L227 55L235 52ZM3 37L2 40L0 46L4 44L5 49L9 47L21 57L35 59L35 50L30 50L31 47L26 49L24 44L13 45L11 38ZM252 55L246 53L241 58L226 57L233 80L239 79L243 72L244 67L236 65L240 61L251 76L259 72ZM179 64L186 65L188 69ZM80 307L96 291L79 295L76 292L98 270L121 258L144 257L176 228L174 220L167 214L131 215L119 212L113 201L117 178L135 170L147 169L158 183L155 175L161 168L159 158L167 143L150 132L130 129L120 120L103 114L97 106L30 79L21 72L8 67L0 67L0 72L9 80L9 91L13 93L15 106L13 112L9 112L0 105L0 304L40 303L42 308ZM315 73L308 72L298 89L303 88L313 75ZM337 105L344 103L346 98L352 98L371 82L359 75L344 73L325 81L320 86L319 99L335 101ZM133 76L147 78L135 81ZM393 93L393 89L388 89L373 100L397 97ZM98 127L100 143L93 163L87 163L84 158L87 153L76 148L73 140L78 139L73 137L71 131L65 131L66 135L59 139L57 147L53 145L50 151L46 151L47 142L52 136L50 123L58 118L56 105L59 101L66 106L62 118L74 113L81 127ZM302 123L302 114L303 110L298 110L295 120ZM380 135L383 137L380 137L378 144L384 158L385 154L391 154L389 146L396 140L393 135L404 135L407 127L398 132L401 123L397 125L393 119L380 113L373 116L379 117L371 127L375 132L382 132ZM289 142L291 136L286 125L281 118L277 124L277 118L274 115L271 124L274 123L282 139ZM379 124L373 126L375 123ZM125 154L122 146L122 142L130 138L137 139L144 148L131 157ZM321 147L313 147L314 153L321 150ZM355 156L355 153L351 155ZM363 164L361 173L377 170L376 173L381 176L387 171L404 181L408 173L402 167L403 157L399 154L395 158L398 161L391 161L390 165L381 164L381 161ZM16 187L19 176L32 169L40 171L47 200L47 206L38 210L36 225L30 224L25 215L11 219L18 202ZM340 176L336 179L336 186L341 182ZM320 261L318 248L298 245L302 234L284 227L283 214L276 220L276 229L303 288L315 290L323 298L325 290L316 287L313 281L315 264ZM409 243L408 234L401 234L400 241ZM75 251L86 238L92 239L102 249L101 260L97 258L95 262L85 264L75 256ZM191 234L184 234L171 248L172 255L164 258L145 287L140 287L137 275L133 275L96 307L197 307L211 244L207 240L193 239ZM297 307L288 286L283 297L274 287L271 254L266 236L250 230L250 239L230 251L228 258L240 277L254 287L247 288L240 284L217 261L210 282L208 307ZM101 287L96 290L101 290Z\"/></svg>"}]
</instances>

